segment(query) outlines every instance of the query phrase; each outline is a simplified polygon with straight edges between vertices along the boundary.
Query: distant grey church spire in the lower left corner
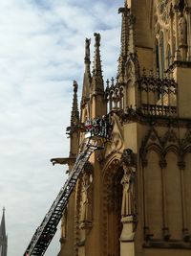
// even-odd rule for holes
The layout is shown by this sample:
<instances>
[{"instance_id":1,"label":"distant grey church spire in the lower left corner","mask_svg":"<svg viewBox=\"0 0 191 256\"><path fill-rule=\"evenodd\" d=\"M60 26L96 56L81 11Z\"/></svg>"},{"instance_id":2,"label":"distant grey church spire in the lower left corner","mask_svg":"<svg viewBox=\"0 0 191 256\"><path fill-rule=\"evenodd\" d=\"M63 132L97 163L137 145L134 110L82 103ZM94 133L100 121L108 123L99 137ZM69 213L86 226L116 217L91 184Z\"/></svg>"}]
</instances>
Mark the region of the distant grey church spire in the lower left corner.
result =
<instances>
[{"instance_id":1,"label":"distant grey church spire in the lower left corner","mask_svg":"<svg viewBox=\"0 0 191 256\"><path fill-rule=\"evenodd\" d=\"M0 225L0 256L7 256L8 236L6 235L5 208L3 208L3 216Z\"/></svg>"}]
</instances>

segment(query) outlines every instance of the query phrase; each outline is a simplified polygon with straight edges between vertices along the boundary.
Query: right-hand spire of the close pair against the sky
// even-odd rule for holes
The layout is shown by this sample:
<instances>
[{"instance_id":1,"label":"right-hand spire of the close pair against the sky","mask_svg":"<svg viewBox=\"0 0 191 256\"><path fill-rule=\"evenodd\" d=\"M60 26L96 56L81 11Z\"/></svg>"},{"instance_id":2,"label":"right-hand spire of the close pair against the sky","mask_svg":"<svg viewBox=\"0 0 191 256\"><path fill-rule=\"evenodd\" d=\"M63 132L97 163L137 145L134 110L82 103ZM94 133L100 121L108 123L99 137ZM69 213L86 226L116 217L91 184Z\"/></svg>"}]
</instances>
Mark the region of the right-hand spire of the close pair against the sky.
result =
<instances>
[{"instance_id":1,"label":"right-hand spire of the close pair against the sky","mask_svg":"<svg viewBox=\"0 0 191 256\"><path fill-rule=\"evenodd\" d=\"M95 33L95 59L94 59L94 69L93 69L93 79L96 81L95 91L104 91L103 87L103 77L101 69L101 59L100 59L100 34Z\"/></svg>"}]
</instances>

